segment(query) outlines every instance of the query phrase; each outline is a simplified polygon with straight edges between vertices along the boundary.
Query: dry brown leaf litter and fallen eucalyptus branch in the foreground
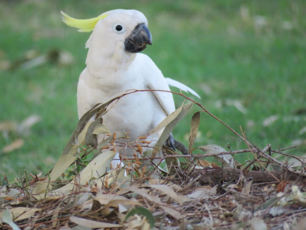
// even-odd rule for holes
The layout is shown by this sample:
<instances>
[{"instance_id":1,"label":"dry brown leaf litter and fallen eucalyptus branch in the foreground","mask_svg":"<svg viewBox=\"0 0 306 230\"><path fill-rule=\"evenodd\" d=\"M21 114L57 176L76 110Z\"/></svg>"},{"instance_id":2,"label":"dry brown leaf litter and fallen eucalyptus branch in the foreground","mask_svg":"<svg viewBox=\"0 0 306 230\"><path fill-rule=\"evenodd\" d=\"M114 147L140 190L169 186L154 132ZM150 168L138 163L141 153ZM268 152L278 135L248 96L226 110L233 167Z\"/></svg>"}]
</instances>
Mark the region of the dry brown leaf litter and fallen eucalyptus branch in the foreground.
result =
<instances>
[{"instance_id":1,"label":"dry brown leaf litter and fallen eucalyptus branch in the foreground","mask_svg":"<svg viewBox=\"0 0 306 230\"><path fill-rule=\"evenodd\" d=\"M128 143L135 154L127 158L121 140L128 139L128 133L110 133L100 118L113 102L137 91L126 91L88 111L46 175L26 173L13 184L1 182L1 229L303 229L304 158L285 154L290 164L279 162L271 154L282 155L290 148L259 149L243 132L235 132L183 94L192 103L182 105L148 134L165 127L159 142L163 143L190 107L198 105L202 110L192 117L188 154L157 144L152 152L162 149L163 156L153 163L141 155L148 145L146 134ZM214 144L195 148L203 111L230 128L248 148L226 151L228 147ZM106 138L96 143L95 135L102 133ZM193 155L197 148L204 154ZM245 152L252 159L235 161L236 154ZM110 168L115 155L124 167ZM214 156L219 165L205 160L207 156Z\"/></svg>"}]
</instances>

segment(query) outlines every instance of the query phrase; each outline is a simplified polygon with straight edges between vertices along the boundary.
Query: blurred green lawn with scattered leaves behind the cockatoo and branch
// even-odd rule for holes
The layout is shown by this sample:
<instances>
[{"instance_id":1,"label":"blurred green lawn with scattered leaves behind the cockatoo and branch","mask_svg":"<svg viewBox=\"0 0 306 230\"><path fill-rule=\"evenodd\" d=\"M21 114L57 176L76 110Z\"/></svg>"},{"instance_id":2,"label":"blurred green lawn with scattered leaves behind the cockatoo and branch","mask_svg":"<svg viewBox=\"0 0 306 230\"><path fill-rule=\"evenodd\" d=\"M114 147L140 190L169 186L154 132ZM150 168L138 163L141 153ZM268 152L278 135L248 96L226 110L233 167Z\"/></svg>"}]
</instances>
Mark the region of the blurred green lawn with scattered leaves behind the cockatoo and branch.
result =
<instances>
[{"instance_id":1,"label":"blurred green lawn with scattered leaves behind the cockatoo and branch","mask_svg":"<svg viewBox=\"0 0 306 230\"><path fill-rule=\"evenodd\" d=\"M153 45L144 53L166 77L198 92L196 101L211 113L237 132L241 125L261 148L297 145L287 153L305 154L305 1L11 0L0 2L1 174L13 180L25 167L46 173L76 127L90 33L64 25L60 10L90 18L118 8L146 15ZM178 107L183 98L175 101ZM173 132L184 144L192 112ZM232 150L246 148L202 113L194 146L228 142Z\"/></svg>"}]
</instances>

